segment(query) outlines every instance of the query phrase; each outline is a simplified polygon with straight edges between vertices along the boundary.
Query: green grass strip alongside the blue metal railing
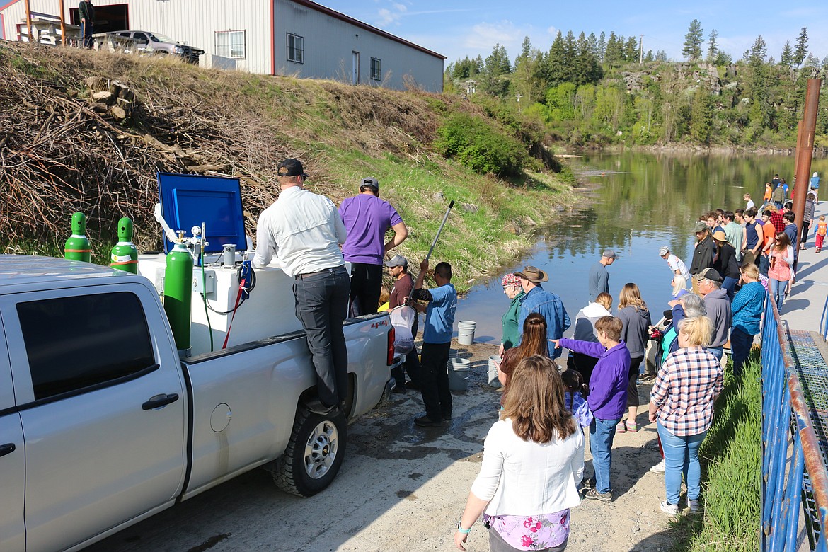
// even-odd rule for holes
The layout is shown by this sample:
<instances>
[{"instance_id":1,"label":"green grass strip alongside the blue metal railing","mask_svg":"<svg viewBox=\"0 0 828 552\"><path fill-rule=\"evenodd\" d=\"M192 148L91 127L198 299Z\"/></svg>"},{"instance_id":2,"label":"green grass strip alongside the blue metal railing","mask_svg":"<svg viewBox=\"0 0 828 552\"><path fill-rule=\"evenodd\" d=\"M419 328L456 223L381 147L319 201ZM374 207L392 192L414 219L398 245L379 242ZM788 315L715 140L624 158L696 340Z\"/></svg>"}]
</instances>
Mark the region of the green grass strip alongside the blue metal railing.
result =
<instances>
[{"instance_id":1,"label":"green grass strip alongside the blue metal railing","mask_svg":"<svg viewBox=\"0 0 828 552\"><path fill-rule=\"evenodd\" d=\"M758 550L762 387L758 353L736 381L726 372L715 421L700 449L703 514L679 517L674 552Z\"/></svg>"}]
</instances>

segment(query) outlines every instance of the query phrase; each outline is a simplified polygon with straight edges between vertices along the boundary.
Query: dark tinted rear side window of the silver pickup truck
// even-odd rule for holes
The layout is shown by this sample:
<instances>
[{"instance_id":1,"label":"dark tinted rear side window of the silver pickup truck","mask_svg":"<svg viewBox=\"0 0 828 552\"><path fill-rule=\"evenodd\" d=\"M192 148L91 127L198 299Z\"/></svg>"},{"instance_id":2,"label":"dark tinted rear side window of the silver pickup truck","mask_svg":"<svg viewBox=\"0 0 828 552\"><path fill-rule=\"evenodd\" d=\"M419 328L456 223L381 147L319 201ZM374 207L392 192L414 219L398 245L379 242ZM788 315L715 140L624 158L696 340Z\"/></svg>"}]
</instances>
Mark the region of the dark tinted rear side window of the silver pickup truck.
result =
<instances>
[{"instance_id":1,"label":"dark tinted rear side window of the silver pickup truck","mask_svg":"<svg viewBox=\"0 0 828 552\"><path fill-rule=\"evenodd\" d=\"M17 304L35 400L152 367L155 355L137 295L78 295Z\"/></svg>"}]
</instances>

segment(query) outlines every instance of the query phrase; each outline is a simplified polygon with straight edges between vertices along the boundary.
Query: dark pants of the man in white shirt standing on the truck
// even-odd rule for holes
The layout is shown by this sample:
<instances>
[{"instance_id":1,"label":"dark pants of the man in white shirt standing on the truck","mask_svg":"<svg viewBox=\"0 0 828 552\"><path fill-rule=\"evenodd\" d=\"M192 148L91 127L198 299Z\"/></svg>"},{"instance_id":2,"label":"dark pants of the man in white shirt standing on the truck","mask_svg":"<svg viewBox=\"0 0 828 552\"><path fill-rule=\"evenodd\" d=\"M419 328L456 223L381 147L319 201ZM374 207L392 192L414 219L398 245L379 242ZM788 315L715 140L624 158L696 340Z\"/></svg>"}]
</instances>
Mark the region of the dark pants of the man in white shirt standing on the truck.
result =
<instances>
[{"instance_id":1,"label":"dark pants of the man in white shirt standing on the truck","mask_svg":"<svg viewBox=\"0 0 828 552\"><path fill-rule=\"evenodd\" d=\"M348 271L337 266L310 276L296 276L296 318L302 323L316 370L316 389L325 406L345 400L348 349L342 323L348 311Z\"/></svg>"}]
</instances>

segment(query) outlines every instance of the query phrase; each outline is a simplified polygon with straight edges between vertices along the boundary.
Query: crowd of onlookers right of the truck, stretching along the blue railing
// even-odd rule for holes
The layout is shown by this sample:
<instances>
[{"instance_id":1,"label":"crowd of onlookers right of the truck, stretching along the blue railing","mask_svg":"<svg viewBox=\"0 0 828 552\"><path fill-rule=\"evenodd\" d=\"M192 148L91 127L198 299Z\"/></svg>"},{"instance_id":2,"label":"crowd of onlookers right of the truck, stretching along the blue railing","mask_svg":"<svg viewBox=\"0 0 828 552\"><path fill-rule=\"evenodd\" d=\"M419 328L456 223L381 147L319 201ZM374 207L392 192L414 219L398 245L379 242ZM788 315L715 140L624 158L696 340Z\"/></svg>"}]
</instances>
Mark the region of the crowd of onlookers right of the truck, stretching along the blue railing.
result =
<instances>
[{"instance_id":1,"label":"crowd of onlookers right of the truck, stretching along the blue railing","mask_svg":"<svg viewBox=\"0 0 828 552\"><path fill-rule=\"evenodd\" d=\"M511 300L503 314L498 370L503 407L458 524L458 548L483 514L491 550L564 550L569 508L579 502L574 492L614 500L614 438L639 430L638 379L651 339L656 352L647 420L656 425L662 454L651 468L664 473L661 510L679 513L682 482L686 507L700 509L698 451L722 391L724 348L729 344L734 377L742 377L766 300L782 309L809 227L816 228L816 251L821 250L826 222L824 216L814 219L816 173L810 184L801 234L787 184L775 176L759 209L745 194L744 209L699 217L689 268L670 247L660 247L673 300L658 324L633 282L621 287L613 310L607 268L616 255L610 249L590 268L590 302L575 316L571 339L562 337L570 319L560 297L542 288L545 271L527 266L503 276L503 293ZM561 371L550 361L564 349L569 354ZM591 475L585 475L581 430L589 432Z\"/></svg>"}]
</instances>

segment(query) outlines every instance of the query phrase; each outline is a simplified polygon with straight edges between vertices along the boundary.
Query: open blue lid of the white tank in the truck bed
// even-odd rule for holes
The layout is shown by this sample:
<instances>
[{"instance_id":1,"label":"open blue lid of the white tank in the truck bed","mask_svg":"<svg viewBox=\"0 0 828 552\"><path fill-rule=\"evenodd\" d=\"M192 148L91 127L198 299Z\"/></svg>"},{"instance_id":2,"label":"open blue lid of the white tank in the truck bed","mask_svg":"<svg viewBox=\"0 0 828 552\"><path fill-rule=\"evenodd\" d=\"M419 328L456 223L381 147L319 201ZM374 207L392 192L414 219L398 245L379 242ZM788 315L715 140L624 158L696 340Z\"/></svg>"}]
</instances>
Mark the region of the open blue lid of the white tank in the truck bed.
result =
<instances>
[{"instance_id":1,"label":"open blue lid of the white tank in the truck bed","mask_svg":"<svg viewBox=\"0 0 828 552\"><path fill-rule=\"evenodd\" d=\"M219 253L224 244L233 243L236 251L246 251L242 187L238 178L224 176L176 175L158 173L158 199L161 214L170 228L185 230L205 223L205 253ZM173 244L164 238L164 251Z\"/></svg>"}]
</instances>

